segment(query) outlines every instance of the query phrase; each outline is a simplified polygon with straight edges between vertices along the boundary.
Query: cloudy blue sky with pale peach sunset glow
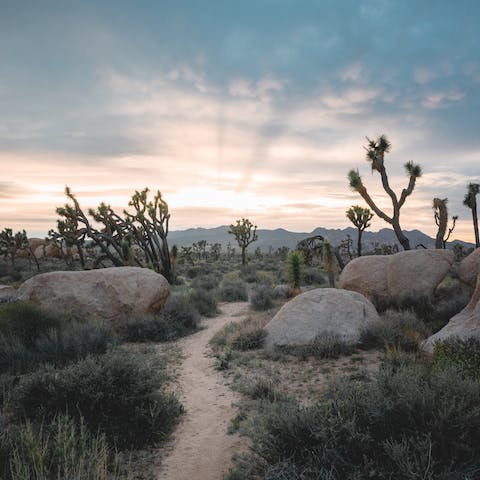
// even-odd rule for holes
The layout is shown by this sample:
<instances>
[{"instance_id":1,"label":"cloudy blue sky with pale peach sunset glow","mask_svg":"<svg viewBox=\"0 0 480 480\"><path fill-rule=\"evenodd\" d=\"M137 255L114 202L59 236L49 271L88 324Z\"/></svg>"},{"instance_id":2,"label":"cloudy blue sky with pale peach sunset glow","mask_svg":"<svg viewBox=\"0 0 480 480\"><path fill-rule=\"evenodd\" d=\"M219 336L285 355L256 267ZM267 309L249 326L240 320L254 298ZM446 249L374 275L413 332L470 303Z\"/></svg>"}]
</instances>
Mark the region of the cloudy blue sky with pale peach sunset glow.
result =
<instances>
[{"instance_id":1,"label":"cloudy blue sky with pale peach sunset glow","mask_svg":"<svg viewBox=\"0 0 480 480\"><path fill-rule=\"evenodd\" d=\"M351 226L365 137L386 134L401 212L436 233L480 182L477 0L0 0L0 229L44 236L65 186L119 211L160 190L170 228ZM480 202L480 200L479 200ZM371 230L388 225L374 217Z\"/></svg>"}]
</instances>

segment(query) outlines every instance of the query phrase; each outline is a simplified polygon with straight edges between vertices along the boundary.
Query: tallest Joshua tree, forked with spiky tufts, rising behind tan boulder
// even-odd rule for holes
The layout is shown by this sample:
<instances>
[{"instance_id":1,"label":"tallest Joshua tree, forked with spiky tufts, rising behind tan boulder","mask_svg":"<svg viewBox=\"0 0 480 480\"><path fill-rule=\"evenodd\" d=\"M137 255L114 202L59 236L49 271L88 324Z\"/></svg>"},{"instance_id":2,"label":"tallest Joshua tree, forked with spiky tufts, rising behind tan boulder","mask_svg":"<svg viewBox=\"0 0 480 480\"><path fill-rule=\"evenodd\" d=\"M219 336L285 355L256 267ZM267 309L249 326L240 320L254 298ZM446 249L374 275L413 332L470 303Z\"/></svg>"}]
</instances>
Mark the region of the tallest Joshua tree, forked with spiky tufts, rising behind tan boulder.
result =
<instances>
[{"instance_id":1,"label":"tallest Joshua tree, forked with spiky tufts, rising behind tan boulder","mask_svg":"<svg viewBox=\"0 0 480 480\"><path fill-rule=\"evenodd\" d=\"M416 165L412 161L409 161L405 164L405 170L409 176L409 182L407 188L402 190L400 198L398 198L396 193L390 187L387 171L384 165L385 153L388 153L391 149L390 142L387 140L385 135L381 135L377 138L377 140L370 140L367 137L367 141L368 146L365 147L367 151L367 161L370 162L372 171L376 170L380 174L383 189L387 192L392 201L393 214L389 216L377 207L375 202L368 194L367 189L363 185L362 178L360 177L358 170L350 170L348 173L350 187L362 196L362 198L367 202L368 206L382 220L385 220L387 223L392 225L395 235L397 236L402 247L405 250L410 250L410 242L403 234L402 228L400 227L400 209L403 207L407 197L413 192L417 178L421 177L422 175L422 169L420 165Z\"/></svg>"}]
</instances>

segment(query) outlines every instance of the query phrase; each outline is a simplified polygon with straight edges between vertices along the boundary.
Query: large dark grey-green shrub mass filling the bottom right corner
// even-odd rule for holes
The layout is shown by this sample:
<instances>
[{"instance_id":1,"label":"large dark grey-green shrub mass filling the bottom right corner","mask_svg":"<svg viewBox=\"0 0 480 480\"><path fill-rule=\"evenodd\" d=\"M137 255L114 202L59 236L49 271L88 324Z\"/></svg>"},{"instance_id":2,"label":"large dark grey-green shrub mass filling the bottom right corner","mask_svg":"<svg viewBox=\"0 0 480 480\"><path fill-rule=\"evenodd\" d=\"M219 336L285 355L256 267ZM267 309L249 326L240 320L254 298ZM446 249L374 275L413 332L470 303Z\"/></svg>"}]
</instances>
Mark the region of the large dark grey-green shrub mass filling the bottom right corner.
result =
<instances>
[{"instance_id":1,"label":"large dark grey-green shrub mass filling the bottom right corner","mask_svg":"<svg viewBox=\"0 0 480 480\"><path fill-rule=\"evenodd\" d=\"M384 368L370 383L331 385L313 406L266 404L230 478L478 478L479 428L478 381L455 369Z\"/></svg>"}]
</instances>

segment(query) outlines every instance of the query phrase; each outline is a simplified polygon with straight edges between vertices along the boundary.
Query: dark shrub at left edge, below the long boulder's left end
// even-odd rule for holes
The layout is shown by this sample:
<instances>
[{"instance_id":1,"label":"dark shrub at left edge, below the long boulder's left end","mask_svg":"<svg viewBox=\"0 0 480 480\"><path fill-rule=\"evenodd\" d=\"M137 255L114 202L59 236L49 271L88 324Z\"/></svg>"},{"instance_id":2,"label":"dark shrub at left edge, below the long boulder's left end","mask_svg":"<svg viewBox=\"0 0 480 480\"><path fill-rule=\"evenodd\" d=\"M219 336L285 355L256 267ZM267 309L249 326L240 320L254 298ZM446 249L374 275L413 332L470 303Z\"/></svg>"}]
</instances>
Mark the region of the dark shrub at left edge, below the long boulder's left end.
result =
<instances>
[{"instance_id":1,"label":"dark shrub at left edge, below the long boulder's left end","mask_svg":"<svg viewBox=\"0 0 480 480\"><path fill-rule=\"evenodd\" d=\"M33 346L40 335L59 328L63 320L28 302L0 305L0 333L5 337L17 337L26 346Z\"/></svg>"}]
</instances>

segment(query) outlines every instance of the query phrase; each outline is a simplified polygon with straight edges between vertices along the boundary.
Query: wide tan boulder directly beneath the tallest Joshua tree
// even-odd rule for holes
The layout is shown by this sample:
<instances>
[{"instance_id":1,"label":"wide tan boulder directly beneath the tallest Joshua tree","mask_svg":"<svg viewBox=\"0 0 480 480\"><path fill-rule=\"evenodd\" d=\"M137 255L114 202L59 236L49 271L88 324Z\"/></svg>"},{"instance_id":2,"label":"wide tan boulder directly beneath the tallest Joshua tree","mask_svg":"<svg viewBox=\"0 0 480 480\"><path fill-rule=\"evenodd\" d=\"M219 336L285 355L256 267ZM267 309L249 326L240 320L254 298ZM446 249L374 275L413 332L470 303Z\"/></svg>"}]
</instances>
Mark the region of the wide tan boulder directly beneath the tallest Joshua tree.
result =
<instances>
[{"instance_id":1,"label":"wide tan boulder directly beneath the tallest Joshua tree","mask_svg":"<svg viewBox=\"0 0 480 480\"><path fill-rule=\"evenodd\" d=\"M362 293L371 301L431 298L453 261L450 250L408 250L359 257L343 269L339 287Z\"/></svg>"}]
</instances>

